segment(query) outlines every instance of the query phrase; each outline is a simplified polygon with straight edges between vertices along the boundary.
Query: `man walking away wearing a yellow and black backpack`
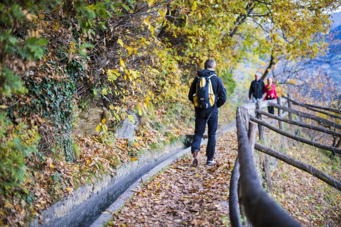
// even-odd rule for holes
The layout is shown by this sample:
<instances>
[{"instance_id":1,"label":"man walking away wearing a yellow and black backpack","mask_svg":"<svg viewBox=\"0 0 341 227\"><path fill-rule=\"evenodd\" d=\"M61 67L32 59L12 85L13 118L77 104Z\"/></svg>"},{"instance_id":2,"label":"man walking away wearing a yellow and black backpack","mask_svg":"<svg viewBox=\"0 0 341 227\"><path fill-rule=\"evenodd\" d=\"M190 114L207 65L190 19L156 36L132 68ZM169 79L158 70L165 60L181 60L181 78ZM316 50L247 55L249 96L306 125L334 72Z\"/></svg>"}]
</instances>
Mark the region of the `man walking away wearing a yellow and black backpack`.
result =
<instances>
[{"instance_id":1,"label":"man walking away wearing a yellow and black backpack","mask_svg":"<svg viewBox=\"0 0 341 227\"><path fill-rule=\"evenodd\" d=\"M192 166L198 165L197 156L200 152L202 135L208 125L209 141L206 148L207 165L214 165L213 161L216 147L216 131L218 128L218 108L226 102L226 89L220 78L217 77L216 62L208 59L204 68L197 71L188 93L195 109L195 131L191 147L193 154Z\"/></svg>"}]
</instances>

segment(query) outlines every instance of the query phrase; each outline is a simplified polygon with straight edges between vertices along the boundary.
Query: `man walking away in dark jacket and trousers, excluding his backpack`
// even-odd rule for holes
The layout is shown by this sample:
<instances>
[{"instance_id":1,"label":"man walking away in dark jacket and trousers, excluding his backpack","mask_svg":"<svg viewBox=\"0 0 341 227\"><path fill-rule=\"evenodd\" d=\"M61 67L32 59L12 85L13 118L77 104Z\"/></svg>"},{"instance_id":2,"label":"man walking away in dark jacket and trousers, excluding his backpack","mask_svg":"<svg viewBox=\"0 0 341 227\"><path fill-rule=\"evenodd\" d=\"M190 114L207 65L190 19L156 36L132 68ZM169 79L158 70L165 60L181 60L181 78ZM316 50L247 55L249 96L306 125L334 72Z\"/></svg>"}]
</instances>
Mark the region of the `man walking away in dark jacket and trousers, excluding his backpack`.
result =
<instances>
[{"instance_id":1,"label":"man walking away in dark jacket and trousers, excluding his backpack","mask_svg":"<svg viewBox=\"0 0 341 227\"><path fill-rule=\"evenodd\" d=\"M208 125L209 141L206 148L207 165L216 164L213 161L215 146L216 146L216 131L218 128L218 108L226 102L226 89L220 78L217 77L216 62L213 59L208 59L204 64L205 69L197 71L198 76L194 78L189 90L188 99L194 103L193 96L196 95L196 86L198 78L207 76L210 77L213 93L215 94L215 102L212 107L201 109L195 107L195 131L191 147L193 154L193 166L197 166L197 155L200 152L200 143L202 135L205 131L206 124Z\"/></svg>"}]
</instances>

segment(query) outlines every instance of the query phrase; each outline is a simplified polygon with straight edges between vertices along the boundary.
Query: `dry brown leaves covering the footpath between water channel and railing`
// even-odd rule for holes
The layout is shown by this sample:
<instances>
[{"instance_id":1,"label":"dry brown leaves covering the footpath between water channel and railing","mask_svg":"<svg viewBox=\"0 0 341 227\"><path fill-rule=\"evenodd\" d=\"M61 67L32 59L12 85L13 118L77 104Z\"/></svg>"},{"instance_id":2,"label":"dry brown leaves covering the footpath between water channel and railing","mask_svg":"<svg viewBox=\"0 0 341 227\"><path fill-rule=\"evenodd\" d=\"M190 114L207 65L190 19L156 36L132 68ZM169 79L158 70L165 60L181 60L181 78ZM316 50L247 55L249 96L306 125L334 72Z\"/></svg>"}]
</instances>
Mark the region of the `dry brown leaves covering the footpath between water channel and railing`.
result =
<instances>
[{"instance_id":1,"label":"dry brown leaves covering the footpath between water channel and railing","mask_svg":"<svg viewBox=\"0 0 341 227\"><path fill-rule=\"evenodd\" d=\"M237 154L235 133L217 141L216 166L204 165L204 152L196 168L187 157L145 182L109 225L226 226L229 179Z\"/></svg>"}]
</instances>

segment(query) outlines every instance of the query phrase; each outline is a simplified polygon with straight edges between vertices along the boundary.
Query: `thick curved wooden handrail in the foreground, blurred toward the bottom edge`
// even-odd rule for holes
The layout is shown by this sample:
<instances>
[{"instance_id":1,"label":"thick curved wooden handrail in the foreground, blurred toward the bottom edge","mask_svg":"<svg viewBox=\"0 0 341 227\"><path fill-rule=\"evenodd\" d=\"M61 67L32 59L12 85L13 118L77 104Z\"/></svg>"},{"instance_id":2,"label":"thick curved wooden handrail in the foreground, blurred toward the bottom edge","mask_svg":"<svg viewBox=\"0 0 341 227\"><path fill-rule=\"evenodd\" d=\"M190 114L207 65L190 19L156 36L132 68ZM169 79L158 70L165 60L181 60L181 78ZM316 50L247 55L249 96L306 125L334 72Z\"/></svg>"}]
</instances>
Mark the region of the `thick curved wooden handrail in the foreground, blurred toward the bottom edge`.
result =
<instances>
[{"instance_id":1,"label":"thick curved wooden handrail in the foreground, blurred toward the bottom edge","mask_svg":"<svg viewBox=\"0 0 341 227\"><path fill-rule=\"evenodd\" d=\"M246 208L248 220L256 227L301 226L275 201L262 191L253 161L249 139L241 117L241 108L237 107L236 127L238 137L238 160L240 163L240 184L242 185L242 203Z\"/></svg>"}]
</instances>

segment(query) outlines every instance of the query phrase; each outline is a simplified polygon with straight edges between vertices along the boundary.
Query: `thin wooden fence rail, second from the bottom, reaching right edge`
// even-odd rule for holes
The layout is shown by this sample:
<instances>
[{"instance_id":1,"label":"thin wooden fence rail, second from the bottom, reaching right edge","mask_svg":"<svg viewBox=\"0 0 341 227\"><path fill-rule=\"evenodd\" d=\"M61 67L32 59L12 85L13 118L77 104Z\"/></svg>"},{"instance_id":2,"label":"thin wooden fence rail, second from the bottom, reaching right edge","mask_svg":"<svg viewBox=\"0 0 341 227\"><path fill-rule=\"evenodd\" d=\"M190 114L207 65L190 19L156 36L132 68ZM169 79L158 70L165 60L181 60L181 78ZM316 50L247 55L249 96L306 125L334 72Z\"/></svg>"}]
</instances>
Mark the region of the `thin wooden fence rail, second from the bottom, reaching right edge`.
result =
<instances>
[{"instance_id":1,"label":"thin wooden fence rail, second from the bottom, reaching right edge","mask_svg":"<svg viewBox=\"0 0 341 227\"><path fill-rule=\"evenodd\" d=\"M300 136L296 136L294 134L291 134L291 133L288 133L284 130L281 130L279 128L276 128L264 121L261 121L257 118L254 118L252 116L250 116L250 121L253 121L255 123L258 123L262 126L265 126L266 128L268 129L271 129L272 131L275 131L281 135L284 135L286 137L289 137L291 139L294 139L296 141L299 141L299 142L302 142L302 143L306 143L306 144L309 144L309 145L312 145L312 146L315 146L315 147L318 147L318 148L322 148L322 149L325 149L325 150L329 150L333 153L337 153L337 154L341 154L341 149L340 148L337 148L337 147L334 147L334 146L329 146L329 145L325 145L325 144L322 144L322 143L318 143L318 142L315 142L315 141L312 141L312 140L309 140L309 139L305 139L303 137L300 137Z\"/></svg>"}]
</instances>

